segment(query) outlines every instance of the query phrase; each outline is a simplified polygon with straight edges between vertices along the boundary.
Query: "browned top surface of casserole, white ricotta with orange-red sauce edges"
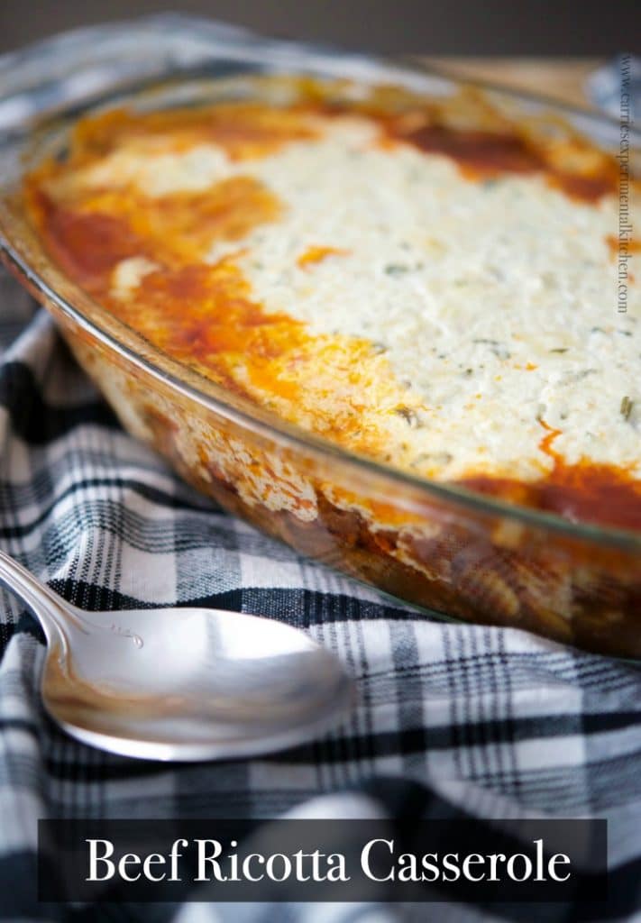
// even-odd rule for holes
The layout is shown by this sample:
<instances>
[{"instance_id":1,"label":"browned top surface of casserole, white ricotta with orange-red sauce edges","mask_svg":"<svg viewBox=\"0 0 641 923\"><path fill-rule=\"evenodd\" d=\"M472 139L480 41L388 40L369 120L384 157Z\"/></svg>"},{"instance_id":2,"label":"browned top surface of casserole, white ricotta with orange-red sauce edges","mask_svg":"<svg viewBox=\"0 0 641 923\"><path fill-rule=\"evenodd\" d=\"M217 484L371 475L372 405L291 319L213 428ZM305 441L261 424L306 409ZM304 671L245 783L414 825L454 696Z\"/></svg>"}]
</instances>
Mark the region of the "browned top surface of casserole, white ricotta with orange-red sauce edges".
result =
<instances>
[{"instance_id":1,"label":"browned top surface of casserole, white ricotta with orange-red sauce edges","mask_svg":"<svg viewBox=\"0 0 641 923\"><path fill-rule=\"evenodd\" d=\"M287 420L641 525L641 298L633 276L617 312L613 163L410 115L102 116L31 177L31 214L118 317Z\"/></svg>"}]
</instances>

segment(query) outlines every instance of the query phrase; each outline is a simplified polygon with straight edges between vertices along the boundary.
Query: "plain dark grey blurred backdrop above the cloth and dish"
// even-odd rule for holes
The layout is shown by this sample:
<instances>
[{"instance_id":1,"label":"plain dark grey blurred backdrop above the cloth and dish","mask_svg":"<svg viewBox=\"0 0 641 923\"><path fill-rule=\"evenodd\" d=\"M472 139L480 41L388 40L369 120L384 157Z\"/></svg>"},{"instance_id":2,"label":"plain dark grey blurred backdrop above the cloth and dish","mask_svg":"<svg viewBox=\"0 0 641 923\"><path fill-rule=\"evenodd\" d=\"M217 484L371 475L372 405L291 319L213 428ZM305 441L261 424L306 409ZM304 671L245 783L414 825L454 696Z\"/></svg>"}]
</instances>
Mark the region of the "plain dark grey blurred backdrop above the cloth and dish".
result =
<instances>
[{"instance_id":1,"label":"plain dark grey blurred backdrop above the cloth and dish","mask_svg":"<svg viewBox=\"0 0 641 923\"><path fill-rule=\"evenodd\" d=\"M0 0L0 52L58 30L172 8L385 52L603 55L641 46L639 0Z\"/></svg>"}]
</instances>

